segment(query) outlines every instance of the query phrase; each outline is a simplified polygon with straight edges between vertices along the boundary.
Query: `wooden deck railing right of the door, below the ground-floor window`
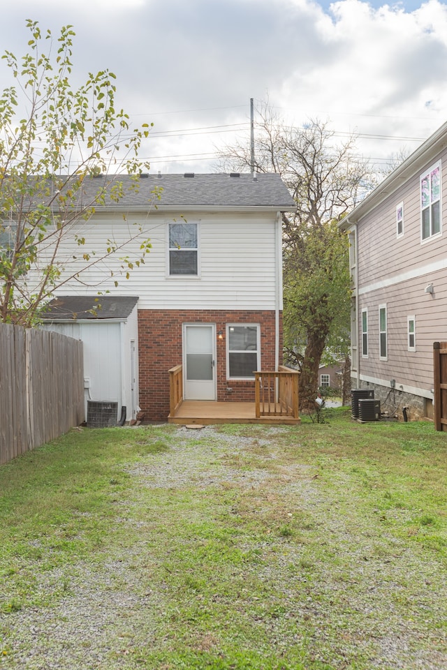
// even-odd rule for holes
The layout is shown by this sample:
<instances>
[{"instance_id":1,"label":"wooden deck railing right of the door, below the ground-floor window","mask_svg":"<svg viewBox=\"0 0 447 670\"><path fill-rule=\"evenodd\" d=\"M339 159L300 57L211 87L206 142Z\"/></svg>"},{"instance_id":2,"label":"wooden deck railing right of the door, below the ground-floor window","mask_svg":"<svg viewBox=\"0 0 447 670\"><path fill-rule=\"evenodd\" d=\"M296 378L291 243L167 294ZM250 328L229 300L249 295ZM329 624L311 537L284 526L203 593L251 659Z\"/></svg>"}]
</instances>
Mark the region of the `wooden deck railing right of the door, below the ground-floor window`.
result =
<instances>
[{"instance_id":1,"label":"wooden deck railing right of the door, below the ground-floor window","mask_svg":"<svg viewBox=\"0 0 447 670\"><path fill-rule=\"evenodd\" d=\"M254 373L256 419L292 417L298 419L298 373L279 366L277 372Z\"/></svg>"}]
</instances>

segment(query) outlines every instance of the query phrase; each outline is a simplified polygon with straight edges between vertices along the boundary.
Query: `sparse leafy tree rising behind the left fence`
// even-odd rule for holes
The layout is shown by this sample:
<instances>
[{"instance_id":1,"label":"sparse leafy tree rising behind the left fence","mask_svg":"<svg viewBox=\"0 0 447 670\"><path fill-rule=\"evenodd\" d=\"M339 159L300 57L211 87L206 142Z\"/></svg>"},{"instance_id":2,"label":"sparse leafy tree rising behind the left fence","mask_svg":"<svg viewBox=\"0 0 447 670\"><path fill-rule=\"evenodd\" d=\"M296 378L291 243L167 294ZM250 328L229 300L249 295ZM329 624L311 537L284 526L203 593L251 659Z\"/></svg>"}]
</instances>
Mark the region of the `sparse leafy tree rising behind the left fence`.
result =
<instances>
[{"instance_id":1,"label":"sparse leafy tree rising behind the left fence","mask_svg":"<svg viewBox=\"0 0 447 670\"><path fill-rule=\"evenodd\" d=\"M109 70L73 87L71 26L56 39L36 21L27 27L28 53L2 57L13 82L0 96L0 320L29 326L54 290L85 282L93 265L123 251L117 282L144 262L150 241L142 225L129 228L126 239L105 240L101 250L89 234L96 207L118 203L126 188L138 190L140 173L149 170L138 151L152 124L131 127L115 106ZM108 177L96 181L101 174ZM121 174L131 176L130 186ZM148 209L159 197L152 194ZM73 244L78 253L68 258Z\"/></svg>"}]
</instances>

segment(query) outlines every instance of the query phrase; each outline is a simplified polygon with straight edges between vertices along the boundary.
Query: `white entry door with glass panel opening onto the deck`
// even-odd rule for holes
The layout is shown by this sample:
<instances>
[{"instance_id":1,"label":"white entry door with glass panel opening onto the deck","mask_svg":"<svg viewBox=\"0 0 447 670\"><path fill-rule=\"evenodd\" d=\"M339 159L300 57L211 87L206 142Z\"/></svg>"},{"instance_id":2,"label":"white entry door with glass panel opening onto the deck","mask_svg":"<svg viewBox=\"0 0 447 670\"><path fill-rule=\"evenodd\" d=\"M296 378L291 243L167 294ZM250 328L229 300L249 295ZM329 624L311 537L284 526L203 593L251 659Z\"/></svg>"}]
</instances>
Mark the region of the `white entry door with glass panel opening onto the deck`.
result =
<instances>
[{"instance_id":1,"label":"white entry door with glass panel opening onto the deck","mask_svg":"<svg viewBox=\"0 0 447 670\"><path fill-rule=\"evenodd\" d=\"M214 324L183 326L183 397L216 399L216 329Z\"/></svg>"}]
</instances>

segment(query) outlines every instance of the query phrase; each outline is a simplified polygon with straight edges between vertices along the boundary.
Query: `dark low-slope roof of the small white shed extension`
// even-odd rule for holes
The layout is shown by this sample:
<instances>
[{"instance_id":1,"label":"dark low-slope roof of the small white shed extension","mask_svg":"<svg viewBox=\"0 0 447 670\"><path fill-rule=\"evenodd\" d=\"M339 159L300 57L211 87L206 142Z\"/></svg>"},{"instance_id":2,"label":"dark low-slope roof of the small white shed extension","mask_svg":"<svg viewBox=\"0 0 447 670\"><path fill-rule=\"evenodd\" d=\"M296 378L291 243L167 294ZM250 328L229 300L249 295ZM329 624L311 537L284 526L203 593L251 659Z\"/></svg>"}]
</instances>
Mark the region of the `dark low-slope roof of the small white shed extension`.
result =
<instances>
[{"instance_id":1,"label":"dark low-slope roof of the small white shed extension","mask_svg":"<svg viewBox=\"0 0 447 670\"><path fill-rule=\"evenodd\" d=\"M47 305L43 321L126 319L138 302L135 296L61 295Z\"/></svg>"}]
</instances>

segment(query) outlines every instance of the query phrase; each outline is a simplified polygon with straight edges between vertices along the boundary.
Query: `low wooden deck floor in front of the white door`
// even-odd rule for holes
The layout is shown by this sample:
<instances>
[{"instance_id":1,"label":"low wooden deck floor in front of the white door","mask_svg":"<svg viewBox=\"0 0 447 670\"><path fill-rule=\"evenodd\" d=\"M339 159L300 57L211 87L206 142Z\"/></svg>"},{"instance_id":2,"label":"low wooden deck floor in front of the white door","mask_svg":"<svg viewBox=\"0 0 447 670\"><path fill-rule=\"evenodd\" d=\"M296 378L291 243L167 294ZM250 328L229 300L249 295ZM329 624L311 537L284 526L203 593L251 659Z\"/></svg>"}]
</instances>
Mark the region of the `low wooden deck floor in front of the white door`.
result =
<instances>
[{"instance_id":1,"label":"low wooden deck floor in front of the white door","mask_svg":"<svg viewBox=\"0 0 447 670\"><path fill-rule=\"evenodd\" d=\"M218 403L214 401L184 400L169 415L170 424L270 424L296 425L299 418L282 416L261 416L256 418L256 403Z\"/></svg>"}]
</instances>

